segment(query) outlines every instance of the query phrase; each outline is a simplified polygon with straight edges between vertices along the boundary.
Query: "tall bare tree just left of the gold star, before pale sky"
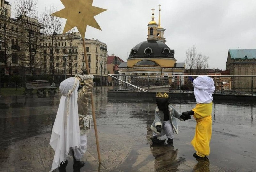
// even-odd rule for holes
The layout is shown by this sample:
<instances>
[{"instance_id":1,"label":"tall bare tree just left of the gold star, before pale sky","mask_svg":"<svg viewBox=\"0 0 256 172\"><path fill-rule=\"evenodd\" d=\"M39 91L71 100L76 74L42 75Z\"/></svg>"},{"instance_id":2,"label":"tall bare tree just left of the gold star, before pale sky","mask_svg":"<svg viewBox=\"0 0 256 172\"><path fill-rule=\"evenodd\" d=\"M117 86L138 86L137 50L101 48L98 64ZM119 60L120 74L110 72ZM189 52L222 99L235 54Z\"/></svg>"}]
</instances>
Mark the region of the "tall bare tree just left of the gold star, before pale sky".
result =
<instances>
[{"instance_id":1,"label":"tall bare tree just left of the gold star, before pale sky","mask_svg":"<svg viewBox=\"0 0 256 172\"><path fill-rule=\"evenodd\" d=\"M56 74L55 67L59 66L59 59L57 57L59 57L59 54L60 54L59 49L57 48L58 42L56 37L62 30L61 18L51 16L51 14L54 11L56 11L56 9L53 6L45 8L42 16L42 22L44 26L43 33L45 34L44 38L45 39L49 38L47 39L47 42L46 42L46 44L48 43L48 45L43 47L44 55L47 55L49 57L48 58L50 61L49 73L52 75L53 84L54 84L54 75Z\"/></svg>"}]
</instances>

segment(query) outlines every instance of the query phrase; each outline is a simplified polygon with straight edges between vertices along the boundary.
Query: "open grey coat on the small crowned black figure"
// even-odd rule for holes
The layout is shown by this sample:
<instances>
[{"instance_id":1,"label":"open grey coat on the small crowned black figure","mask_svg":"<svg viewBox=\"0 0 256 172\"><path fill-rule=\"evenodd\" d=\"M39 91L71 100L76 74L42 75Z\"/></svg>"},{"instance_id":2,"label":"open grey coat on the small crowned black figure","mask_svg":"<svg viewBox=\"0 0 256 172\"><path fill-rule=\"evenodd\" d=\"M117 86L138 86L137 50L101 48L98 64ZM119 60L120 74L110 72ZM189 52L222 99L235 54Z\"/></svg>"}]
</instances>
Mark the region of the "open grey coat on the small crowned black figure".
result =
<instances>
[{"instance_id":1,"label":"open grey coat on the small crowned black figure","mask_svg":"<svg viewBox=\"0 0 256 172\"><path fill-rule=\"evenodd\" d=\"M184 120L180 118L181 113L179 113L173 106L169 105L168 110L169 110L169 120L171 122L171 125L172 125L175 133L178 134L178 125L177 125L176 119L174 117L180 119L180 121L184 121ZM158 107L156 107L156 109L155 109L155 120L153 121L153 123L150 127L151 130L153 130L157 134L164 135L164 133L163 133L164 132L163 131L163 121L164 121L164 112L159 110ZM162 126L162 132L161 133L159 133L156 130L157 125Z\"/></svg>"}]
</instances>

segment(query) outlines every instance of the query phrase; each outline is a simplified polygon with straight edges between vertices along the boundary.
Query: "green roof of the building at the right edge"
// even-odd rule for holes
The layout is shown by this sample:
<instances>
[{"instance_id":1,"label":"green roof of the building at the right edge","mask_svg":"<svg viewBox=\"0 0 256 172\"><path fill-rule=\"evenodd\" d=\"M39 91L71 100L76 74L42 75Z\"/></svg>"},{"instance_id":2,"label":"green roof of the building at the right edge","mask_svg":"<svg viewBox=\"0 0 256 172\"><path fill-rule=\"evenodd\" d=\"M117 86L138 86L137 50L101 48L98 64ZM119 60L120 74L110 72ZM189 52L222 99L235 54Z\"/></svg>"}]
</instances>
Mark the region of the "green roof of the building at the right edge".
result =
<instances>
[{"instance_id":1,"label":"green roof of the building at the right edge","mask_svg":"<svg viewBox=\"0 0 256 172\"><path fill-rule=\"evenodd\" d=\"M230 50L229 53L232 59L256 58L256 49L252 50Z\"/></svg>"}]
</instances>

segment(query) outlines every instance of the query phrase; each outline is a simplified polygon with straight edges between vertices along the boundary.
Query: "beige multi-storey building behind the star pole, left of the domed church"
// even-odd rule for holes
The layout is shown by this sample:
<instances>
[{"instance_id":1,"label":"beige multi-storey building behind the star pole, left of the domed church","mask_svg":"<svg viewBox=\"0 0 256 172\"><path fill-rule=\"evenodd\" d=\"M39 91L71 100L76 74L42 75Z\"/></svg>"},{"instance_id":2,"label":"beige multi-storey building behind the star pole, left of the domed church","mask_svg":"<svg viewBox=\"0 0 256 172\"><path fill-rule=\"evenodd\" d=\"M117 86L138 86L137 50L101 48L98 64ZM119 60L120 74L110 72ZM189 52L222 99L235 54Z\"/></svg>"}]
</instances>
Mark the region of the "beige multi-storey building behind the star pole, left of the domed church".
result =
<instances>
[{"instance_id":1,"label":"beige multi-storey building behind the star pole, left of the domed church","mask_svg":"<svg viewBox=\"0 0 256 172\"><path fill-rule=\"evenodd\" d=\"M42 35L41 45L42 74L54 75L55 83L60 83L64 79L65 57L66 77L81 73L81 68L86 69L80 33L55 35L53 45L50 35ZM107 45L98 39L85 39L85 45L90 74L99 79L101 76L102 85L107 85ZM98 82L97 85L100 85L100 83Z\"/></svg>"}]
</instances>

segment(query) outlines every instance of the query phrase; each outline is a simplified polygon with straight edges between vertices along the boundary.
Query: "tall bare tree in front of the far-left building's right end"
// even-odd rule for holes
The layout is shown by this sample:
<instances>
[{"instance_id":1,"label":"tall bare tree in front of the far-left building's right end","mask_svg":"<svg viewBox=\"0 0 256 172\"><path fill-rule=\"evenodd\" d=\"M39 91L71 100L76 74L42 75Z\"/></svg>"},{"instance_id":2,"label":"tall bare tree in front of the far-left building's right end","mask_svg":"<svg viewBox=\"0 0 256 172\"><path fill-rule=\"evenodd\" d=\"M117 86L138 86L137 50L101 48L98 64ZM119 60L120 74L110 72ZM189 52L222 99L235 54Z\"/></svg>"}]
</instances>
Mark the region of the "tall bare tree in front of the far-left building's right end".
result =
<instances>
[{"instance_id":1,"label":"tall bare tree in front of the far-left building's right end","mask_svg":"<svg viewBox=\"0 0 256 172\"><path fill-rule=\"evenodd\" d=\"M33 71L41 70L40 36L42 25L37 19L37 1L20 0L16 6L16 17L21 24L21 65L27 68L31 75Z\"/></svg>"}]
</instances>

